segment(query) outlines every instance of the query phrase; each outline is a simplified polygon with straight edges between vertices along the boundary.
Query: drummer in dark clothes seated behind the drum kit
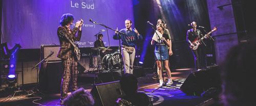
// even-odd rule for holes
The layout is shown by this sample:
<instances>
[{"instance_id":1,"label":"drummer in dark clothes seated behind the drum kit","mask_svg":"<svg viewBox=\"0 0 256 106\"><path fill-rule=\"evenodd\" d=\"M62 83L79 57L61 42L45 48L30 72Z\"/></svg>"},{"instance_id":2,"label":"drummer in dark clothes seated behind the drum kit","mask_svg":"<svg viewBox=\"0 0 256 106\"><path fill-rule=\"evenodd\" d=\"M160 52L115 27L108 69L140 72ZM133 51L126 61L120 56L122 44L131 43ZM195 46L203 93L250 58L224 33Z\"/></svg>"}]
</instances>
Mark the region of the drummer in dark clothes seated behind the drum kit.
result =
<instances>
[{"instance_id":1,"label":"drummer in dark clothes seated behind the drum kit","mask_svg":"<svg viewBox=\"0 0 256 106\"><path fill-rule=\"evenodd\" d=\"M103 42L103 34L98 35L98 40L94 42L94 48L99 47L100 55L104 56L106 54L105 51L111 51L112 49L105 48L104 42Z\"/></svg>"}]
</instances>

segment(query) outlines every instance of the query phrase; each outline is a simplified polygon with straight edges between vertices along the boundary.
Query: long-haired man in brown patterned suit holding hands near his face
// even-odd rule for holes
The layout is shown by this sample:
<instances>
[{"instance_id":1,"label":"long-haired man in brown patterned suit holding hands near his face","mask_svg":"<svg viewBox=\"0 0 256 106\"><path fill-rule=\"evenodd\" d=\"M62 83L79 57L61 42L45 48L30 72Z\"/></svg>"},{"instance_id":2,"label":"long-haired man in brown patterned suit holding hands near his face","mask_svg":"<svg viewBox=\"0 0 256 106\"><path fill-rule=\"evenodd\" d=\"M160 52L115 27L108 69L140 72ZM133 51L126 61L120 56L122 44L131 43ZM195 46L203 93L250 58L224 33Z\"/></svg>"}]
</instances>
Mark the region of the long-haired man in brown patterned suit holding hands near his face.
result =
<instances>
[{"instance_id":1,"label":"long-haired man in brown patterned suit holding hands near his face","mask_svg":"<svg viewBox=\"0 0 256 106\"><path fill-rule=\"evenodd\" d=\"M75 57L74 47L68 39L72 41L80 41L83 20L75 23L73 30L70 25L73 24L74 16L72 14L63 14L60 18L60 26L58 26L57 34L60 43L60 49L57 57L61 58L63 64L63 74L61 81L60 103L68 96L70 82L72 91L77 90L77 59ZM78 32L77 36L75 35ZM68 38L68 39L67 39Z\"/></svg>"}]
</instances>

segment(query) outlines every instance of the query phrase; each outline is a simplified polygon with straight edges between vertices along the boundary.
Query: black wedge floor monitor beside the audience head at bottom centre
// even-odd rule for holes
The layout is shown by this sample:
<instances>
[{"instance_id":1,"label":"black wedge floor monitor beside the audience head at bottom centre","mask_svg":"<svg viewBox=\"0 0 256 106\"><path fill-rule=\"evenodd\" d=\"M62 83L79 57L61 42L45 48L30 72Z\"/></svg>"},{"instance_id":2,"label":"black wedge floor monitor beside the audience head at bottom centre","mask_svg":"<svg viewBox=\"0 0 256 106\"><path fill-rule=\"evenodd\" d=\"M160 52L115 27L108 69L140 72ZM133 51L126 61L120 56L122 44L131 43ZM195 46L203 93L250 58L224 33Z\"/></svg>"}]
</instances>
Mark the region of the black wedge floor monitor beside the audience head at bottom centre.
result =
<instances>
[{"instance_id":1,"label":"black wedge floor monitor beside the audience head at bottom centre","mask_svg":"<svg viewBox=\"0 0 256 106\"><path fill-rule=\"evenodd\" d=\"M119 81L97 84L93 87L91 94L94 97L95 105L115 105L117 98L124 96Z\"/></svg>"}]
</instances>

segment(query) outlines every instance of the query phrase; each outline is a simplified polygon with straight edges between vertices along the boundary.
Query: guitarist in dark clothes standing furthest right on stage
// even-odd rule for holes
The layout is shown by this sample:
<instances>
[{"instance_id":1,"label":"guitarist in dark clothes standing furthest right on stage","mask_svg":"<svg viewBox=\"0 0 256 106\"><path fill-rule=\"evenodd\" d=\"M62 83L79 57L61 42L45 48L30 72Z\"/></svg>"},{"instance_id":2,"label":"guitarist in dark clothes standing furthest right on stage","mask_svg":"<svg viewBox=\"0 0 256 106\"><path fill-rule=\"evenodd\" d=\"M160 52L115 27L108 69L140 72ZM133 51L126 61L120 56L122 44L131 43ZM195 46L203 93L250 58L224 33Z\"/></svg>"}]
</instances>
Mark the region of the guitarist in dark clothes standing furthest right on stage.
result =
<instances>
[{"instance_id":1,"label":"guitarist in dark clothes standing furthest right on stage","mask_svg":"<svg viewBox=\"0 0 256 106\"><path fill-rule=\"evenodd\" d=\"M187 37L186 40L189 43L189 46L193 45L192 42L195 41L198 37L202 38L203 34L200 30L197 30L197 22L193 21L190 23L190 25L193 27L192 29L187 31ZM201 58L201 53L202 53L202 45L199 45L199 47L196 50L193 50L193 55L194 55L194 61L195 61L195 67L199 71L201 70L201 65L200 65L200 58Z\"/></svg>"}]
</instances>

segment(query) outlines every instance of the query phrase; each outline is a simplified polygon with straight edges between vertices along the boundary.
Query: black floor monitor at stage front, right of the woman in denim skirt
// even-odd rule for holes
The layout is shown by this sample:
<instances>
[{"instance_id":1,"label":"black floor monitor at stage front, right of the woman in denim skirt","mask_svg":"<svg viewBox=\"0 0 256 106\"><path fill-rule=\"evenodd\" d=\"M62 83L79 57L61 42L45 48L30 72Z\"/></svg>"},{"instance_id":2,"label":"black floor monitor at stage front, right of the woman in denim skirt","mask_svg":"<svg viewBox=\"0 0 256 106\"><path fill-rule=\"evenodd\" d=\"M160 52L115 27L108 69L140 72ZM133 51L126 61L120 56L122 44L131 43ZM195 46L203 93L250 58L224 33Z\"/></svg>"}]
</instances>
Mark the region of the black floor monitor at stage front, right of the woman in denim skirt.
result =
<instances>
[{"instance_id":1,"label":"black floor monitor at stage front, right of the woman in denim skirt","mask_svg":"<svg viewBox=\"0 0 256 106\"><path fill-rule=\"evenodd\" d=\"M187 95L200 96L210 88L221 88L220 68L212 67L206 70L191 72L180 87Z\"/></svg>"}]
</instances>

